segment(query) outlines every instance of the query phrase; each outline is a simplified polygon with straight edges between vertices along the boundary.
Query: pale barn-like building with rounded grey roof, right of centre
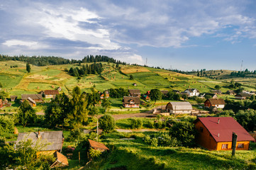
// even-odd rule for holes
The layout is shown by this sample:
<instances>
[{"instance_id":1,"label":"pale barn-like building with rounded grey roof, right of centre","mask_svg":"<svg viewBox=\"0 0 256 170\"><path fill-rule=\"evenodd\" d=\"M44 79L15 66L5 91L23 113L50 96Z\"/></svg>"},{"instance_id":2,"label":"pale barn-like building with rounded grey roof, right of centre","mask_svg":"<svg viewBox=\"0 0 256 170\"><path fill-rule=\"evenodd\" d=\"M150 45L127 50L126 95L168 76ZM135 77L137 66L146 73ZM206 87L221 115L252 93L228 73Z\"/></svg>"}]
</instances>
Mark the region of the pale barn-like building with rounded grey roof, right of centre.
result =
<instances>
[{"instance_id":1,"label":"pale barn-like building with rounded grey roof, right of centre","mask_svg":"<svg viewBox=\"0 0 256 170\"><path fill-rule=\"evenodd\" d=\"M169 102L165 109L170 114L190 114L193 110L191 104L187 101Z\"/></svg>"}]
</instances>

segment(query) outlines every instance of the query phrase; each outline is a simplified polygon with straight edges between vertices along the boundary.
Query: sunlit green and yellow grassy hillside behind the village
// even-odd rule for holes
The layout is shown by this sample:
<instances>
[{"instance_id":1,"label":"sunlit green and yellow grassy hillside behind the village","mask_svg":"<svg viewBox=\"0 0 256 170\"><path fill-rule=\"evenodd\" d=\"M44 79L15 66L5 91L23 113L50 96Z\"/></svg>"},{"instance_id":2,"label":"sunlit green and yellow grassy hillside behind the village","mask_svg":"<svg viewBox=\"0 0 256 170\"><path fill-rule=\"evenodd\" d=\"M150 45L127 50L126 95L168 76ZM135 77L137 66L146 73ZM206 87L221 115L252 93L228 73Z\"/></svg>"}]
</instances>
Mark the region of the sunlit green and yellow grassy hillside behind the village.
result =
<instances>
[{"instance_id":1,"label":"sunlit green and yellow grassy hillside behind the village","mask_svg":"<svg viewBox=\"0 0 256 170\"><path fill-rule=\"evenodd\" d=\"M121 70L116 69L116 64L104 64L104 72L100 75L87 75L78 80L71 77L65 68L82 67L78 65L51 65L47 67L31 66L31 72L26 72L26 63L5 61L0 62L0 82L10 95L35 94L46 89L56 89L62 87L65 93L72 91L74 86L79 86L82 91L91 92L104 91L111 88L140 89L143 93L150 89L184 91L187 88L196 88L201 92L208 92L214 89L217 84L225 86L223 81L196 77L195 75L179 74L169 72L164 69L154 69L150 67L140 67L133 65L121 66ZM13 65L18 67L11 68ZM226 71L225 71L226 72ZM131 80L130 74L134 79ZM256 82L256 79L255 79ZM138 86L133 86L136 83ZM247 90L255 90L250 86L245 86ZM222 88L222 91L228 89Z\"/></svg>"}]
</instances>

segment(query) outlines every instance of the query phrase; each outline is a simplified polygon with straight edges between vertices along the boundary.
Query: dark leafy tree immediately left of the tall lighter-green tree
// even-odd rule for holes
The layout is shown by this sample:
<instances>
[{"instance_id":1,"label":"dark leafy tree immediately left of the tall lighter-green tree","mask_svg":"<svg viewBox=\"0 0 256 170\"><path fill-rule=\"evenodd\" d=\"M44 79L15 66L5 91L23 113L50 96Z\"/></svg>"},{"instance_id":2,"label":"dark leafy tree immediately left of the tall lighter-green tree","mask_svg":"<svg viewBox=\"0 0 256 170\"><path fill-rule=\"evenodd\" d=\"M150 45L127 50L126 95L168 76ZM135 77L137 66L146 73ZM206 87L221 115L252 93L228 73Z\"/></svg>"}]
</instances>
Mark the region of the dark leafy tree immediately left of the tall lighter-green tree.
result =
<instances>
[{"instance_id":1,"label":"dark leafy tree immediately left of the tall lighter-green tree","mask_svg":"<svg viewBox=\"0 0 256 170\"><path fill-rule=\"evenodd\" d=\"M45 110L45 122L53 128L55 125L64 127L65 120L70 112L69 98L65 94L55 96Z\"/></svg>"}]
</instances>

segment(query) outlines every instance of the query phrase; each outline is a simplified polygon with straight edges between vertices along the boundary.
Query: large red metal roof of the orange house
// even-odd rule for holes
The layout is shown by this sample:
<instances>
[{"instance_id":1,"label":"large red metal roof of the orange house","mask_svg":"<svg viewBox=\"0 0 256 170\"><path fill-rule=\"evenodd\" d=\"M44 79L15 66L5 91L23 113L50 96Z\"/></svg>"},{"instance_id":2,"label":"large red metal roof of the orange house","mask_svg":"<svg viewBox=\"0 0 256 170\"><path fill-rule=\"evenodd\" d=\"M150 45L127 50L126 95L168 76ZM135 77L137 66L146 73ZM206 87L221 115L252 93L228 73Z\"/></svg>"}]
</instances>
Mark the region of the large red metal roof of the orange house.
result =
<instances>
[{"instance_id":1,"label":"large red metal roof of the orange house","mask_svg":"<svg viewBox=\"0 0 256 170\"><path fill-rule=\"evenodd\" d=\"M207 117L199 120L216 142L231 142L233 132L238 135L237 141L254 141L254 138L232 117Z\"/></svg>"}]
</instances>

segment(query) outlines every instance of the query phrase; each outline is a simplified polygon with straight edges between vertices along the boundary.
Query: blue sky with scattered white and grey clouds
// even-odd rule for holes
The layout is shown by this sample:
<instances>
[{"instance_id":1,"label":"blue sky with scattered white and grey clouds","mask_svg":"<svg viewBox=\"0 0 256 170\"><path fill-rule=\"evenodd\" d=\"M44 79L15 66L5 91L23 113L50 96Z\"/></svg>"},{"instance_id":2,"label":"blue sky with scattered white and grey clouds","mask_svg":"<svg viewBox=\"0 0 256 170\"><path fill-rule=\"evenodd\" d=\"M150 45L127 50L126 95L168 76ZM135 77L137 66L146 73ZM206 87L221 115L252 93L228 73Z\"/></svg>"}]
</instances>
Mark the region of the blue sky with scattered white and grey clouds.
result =
<instances>
[{"instance_id":1,"label":"blue sky with scattered white and grey clouds","mask_svg":"<svg viewBox=\"0 0 256 170\"><path fill-rule=\"evenodd\" d=\"M255 8L254 0L0 0L0 54L255 70Z\"/></svg>"}]
</instances>

